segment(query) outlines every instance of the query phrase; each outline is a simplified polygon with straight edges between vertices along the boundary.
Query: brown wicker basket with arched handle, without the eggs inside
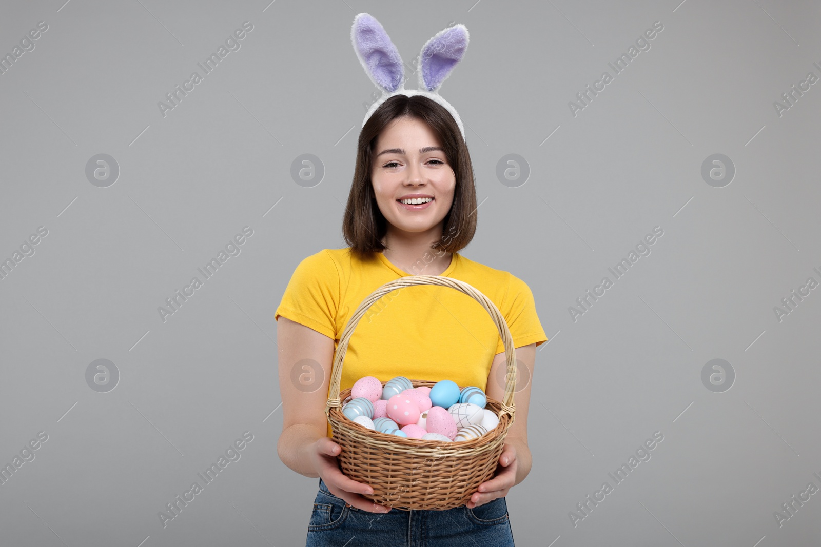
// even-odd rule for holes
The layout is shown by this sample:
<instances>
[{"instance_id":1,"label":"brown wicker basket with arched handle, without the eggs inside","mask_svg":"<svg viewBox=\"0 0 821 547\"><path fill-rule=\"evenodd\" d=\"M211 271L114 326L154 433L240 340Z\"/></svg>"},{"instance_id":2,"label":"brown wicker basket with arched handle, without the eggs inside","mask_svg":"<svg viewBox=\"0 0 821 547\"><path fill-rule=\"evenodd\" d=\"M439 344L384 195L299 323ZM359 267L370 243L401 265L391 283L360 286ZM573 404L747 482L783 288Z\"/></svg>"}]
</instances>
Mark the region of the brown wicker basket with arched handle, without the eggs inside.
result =
<instances>
[{"instance_id":1,"label":"brown wicker basket with arched handle, without the eggs inside","mask_svg":"<svg viewBox=\"0 0 821 547\"><path fill-rule=\"evenodd\" d=\"M342 361L348 341L365 312L383 295L411 285L441 285L459 290L479 302L498 328L505 346L507 375L502 402L488 397L489 408L499 417L499 425L476 439L457 442L409 439L381 433L351 422L342 414L342 401L351 390L339 392ZM398 375L397 375L398 376ZM383 385L386 382L382 382ZM414 387L433 386L433 381L411 380ZM460 389L466 387L459 386ZM496 472L507 429L513 423L516 404L516 351L507 323L493 302L464 281L444 276L405 276L374 290L360 303L348 320L333 359L331 385L325 415L331 424L333 440L342 447L337 455L342 473L374 489L365 495L377 504L401 510L450 509L466 504L484 481Z\"/></svg>"}]
</instances>

